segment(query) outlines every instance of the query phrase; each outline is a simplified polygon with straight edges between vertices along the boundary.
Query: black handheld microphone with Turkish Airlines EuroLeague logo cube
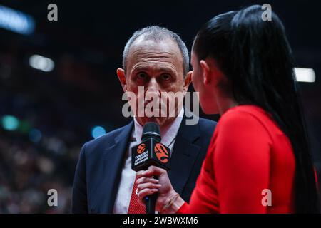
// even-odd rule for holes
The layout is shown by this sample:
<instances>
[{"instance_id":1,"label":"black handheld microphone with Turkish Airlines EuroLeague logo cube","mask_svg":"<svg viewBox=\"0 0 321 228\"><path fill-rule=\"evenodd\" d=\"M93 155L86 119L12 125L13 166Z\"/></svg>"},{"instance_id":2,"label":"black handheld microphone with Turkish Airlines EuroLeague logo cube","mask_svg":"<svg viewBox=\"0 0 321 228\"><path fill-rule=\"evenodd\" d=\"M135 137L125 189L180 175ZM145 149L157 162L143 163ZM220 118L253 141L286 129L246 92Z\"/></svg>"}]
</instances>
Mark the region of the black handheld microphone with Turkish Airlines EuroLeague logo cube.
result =
<instances>
[{"instance_id":1,"label":"black handheld microphone with Turkish Airlines EuroLeague logo cube","mask_svg":"<svg viewBox=\"0 0 321 228\"><path fill-rule=\"evenodd\" d=\"M131 149L132 170L147 170L151 165L170 169L170 149L161 144L159 126L152 122L144 125L141 144ZM157 196L156 193L146 196L146 214L155 214Z\"/></svg>"}]
</instances>

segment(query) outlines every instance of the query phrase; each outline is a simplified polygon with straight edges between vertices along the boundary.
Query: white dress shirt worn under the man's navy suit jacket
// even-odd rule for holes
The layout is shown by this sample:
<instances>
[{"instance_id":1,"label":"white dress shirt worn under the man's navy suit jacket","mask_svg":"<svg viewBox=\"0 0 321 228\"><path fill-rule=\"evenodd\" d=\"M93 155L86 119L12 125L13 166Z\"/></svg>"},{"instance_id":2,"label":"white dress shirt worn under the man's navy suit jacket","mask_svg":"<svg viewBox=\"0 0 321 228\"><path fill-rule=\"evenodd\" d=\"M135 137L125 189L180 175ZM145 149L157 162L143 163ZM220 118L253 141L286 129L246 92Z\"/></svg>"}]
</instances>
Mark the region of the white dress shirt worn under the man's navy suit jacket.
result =
<instances>
[{"instance_id":1,"label":"white dress shirt worn under the man's navy suit jacket","mask_svg":"<svg viewBox=\"0 0 321 228\"><path fill-rule=\"evenodd\" d=\"M178 117L175 118L167 128L161 129L161 142L163 145L170 148L170 153L173 151L175 138L180 128L184 115L184 108L180 110ZM128 152L126 154L125 164L121 171L121 181L119 183L118 192L116 195L115 204L113 207L114 214L127 214L129 203L131 201L131 192L133 191L133 183L136 178L136 172L131 169L131 148L141 143L141 134L143 126L134 118L134 128L129 140ZM169 146L168 146L169 145Z\"/></svg>"}]
</instances>

